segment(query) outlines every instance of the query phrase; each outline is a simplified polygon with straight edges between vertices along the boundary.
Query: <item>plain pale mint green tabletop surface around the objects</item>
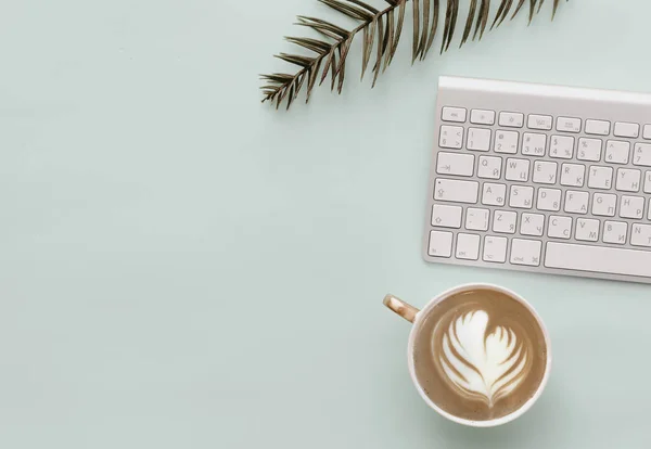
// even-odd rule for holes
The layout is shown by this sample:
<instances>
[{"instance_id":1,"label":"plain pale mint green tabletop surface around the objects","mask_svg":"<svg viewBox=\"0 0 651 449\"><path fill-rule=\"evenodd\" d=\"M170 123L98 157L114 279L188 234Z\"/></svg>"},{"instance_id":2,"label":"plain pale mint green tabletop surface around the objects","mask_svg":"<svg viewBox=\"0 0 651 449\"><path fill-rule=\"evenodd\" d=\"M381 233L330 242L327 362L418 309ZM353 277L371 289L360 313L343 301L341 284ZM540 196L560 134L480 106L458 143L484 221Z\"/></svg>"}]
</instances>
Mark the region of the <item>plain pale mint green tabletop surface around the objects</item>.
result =
<instances>
[{"instance_id":1,"label":"plain pale mint green tabletop surface around the objects","mask_svg":"<svg viewBox=\"0 0 651 449\"><path fill-rule=\"evenodd\" d=\"M3 1L0 447L648 447L649 286L420 256L439 75L650 91L651 3L546 3L413 67L407 21L375 89L356 44L276 113L257 75L316 1ZM554 354L493 429L426 407L381 305L480 281Z\"/></svg>"}]
</instances>

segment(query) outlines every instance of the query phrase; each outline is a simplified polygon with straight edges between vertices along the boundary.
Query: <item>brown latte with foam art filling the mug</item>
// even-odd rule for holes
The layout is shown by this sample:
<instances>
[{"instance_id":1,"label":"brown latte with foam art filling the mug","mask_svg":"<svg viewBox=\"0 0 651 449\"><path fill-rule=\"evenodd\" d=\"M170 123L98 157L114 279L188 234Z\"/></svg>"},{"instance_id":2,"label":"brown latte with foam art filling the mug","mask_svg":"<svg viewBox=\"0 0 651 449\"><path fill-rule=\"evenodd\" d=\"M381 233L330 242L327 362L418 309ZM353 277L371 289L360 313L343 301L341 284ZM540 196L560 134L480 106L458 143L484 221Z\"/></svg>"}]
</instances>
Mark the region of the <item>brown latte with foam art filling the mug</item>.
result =
<instances>
[{"instance_id":1,"label":"brown latte with foam art filling the mug","mask_svg":"<svg viewBox=\"0 0 651 449\"><path fill-rule=\"evenodd\" d=\"M547 342L534 313L488 288L436 304L418 323L414 373L423 393L444 411L488 421L515 412L532 398L547 369Z\"/></svg>"}]
</instances>

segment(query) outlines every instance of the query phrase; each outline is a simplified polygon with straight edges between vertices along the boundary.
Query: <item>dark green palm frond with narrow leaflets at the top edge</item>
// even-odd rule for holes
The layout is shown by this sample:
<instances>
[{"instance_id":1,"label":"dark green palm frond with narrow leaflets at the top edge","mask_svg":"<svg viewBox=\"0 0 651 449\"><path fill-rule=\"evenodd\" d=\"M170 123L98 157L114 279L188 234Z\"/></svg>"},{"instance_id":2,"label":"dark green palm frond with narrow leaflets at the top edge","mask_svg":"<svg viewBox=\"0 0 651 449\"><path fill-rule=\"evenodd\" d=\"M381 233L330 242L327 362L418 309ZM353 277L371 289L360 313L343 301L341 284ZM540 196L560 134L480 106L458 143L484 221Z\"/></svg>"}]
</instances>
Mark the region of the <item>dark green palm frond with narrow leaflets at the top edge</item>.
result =
<instances>
[{"instance_id":1,"label":"dark green palm frond with narrow leaflets at the top edge","mask_svg":"<svg viewBox=\"0 0 651 449\"><path fill-rule=\"evenodd\" d=\"M298 16L296 25L310 28L320 38L285 37L292 44L308 50L310 55L279 53L276 57L296 68L293 73L276 73L263 75L263 102L269 101L280 107L286 100L286 107L298 98L302 89L306 88L306 102L317 82L322 85L330 76L330 88L342 93L346 74L346 63L350 47L358 34L361 34L361 78L375 53L372 86L374 87L380 72L386 70L398 49L406 16L406 4L410 0L384 0L386 8L379 10L362 0L318 0L327 8L357 23L347 29L331 22L311 16ZM441 3L444 0L411 0L413 37L411 43L412 63L417 59L424 60L434 42L438 30ZM511 20L521 11L526 11L526 0L468 0L470 8L464 21L463 34L459 47L462 47L470 35L472 39L481 40L488 25L490 7L497 4L490 29L499 27L509 16ZM566 0L569 1L569 0ZM459 15L459 0L445 0L445 18L443 24L443 41L441 52L447 51L452 42ZM528 22L541 11L545 0L528 0ZM551 18L553 20L561 0L552 0ZM474 23L474 31L473 31Z\"/></svg>"}]
</instances>

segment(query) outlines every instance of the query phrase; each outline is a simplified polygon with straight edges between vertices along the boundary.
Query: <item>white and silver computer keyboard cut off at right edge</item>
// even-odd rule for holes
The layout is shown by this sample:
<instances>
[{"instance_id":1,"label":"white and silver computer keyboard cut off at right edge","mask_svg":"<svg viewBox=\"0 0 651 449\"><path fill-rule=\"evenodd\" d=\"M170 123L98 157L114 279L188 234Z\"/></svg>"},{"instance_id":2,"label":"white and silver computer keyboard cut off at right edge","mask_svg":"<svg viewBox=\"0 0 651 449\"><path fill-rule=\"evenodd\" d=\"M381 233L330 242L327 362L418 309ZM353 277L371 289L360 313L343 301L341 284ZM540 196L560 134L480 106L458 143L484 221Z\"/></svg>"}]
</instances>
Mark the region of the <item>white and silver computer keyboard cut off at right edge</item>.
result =
<instances>
[{"instance_id":1,"label":"white and silver computer keyboard cut off at right edge","mask_svg":"<svg viewBox=\"0 0 651 449\"><path fill-rule=\"evenodd\" d=\"M423 256L651 283L651 94L441 77Z\"/></svg>"}]
</instances>

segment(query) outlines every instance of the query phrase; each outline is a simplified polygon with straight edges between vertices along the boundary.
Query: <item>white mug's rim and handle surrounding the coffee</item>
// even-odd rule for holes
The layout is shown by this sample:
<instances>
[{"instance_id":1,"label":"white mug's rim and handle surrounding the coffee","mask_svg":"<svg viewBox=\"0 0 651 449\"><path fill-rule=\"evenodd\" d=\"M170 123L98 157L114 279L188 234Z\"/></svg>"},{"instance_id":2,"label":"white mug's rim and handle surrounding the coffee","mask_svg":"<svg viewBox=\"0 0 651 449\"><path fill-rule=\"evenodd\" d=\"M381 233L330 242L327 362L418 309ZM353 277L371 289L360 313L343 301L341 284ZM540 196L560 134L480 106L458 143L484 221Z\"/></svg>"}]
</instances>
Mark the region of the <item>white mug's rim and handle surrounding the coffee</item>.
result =
<instances>
[{"instance_id":1,"label":"white mug's rim and handle surrounding the coffee","mask_svg":"<svg viewBox=\"0 0 651 449\"><path fill-rule=\"evenodd\" d=\"M416 343L417 336L419 335L419 332L421 330L424 318L434 309L434 307L438 303L449 298L450 296L457 295L459 293L463 293L463 292L471 291L471 290L477 290L477 288L488 288L488 290L503 293L503 294L512 297L513 299L520 302L522 305L524 305L532 312L532 315L536 318L538 324L540 325L540 329L542 330L542 333L545 335L545 343L547 345L547 364L545 368L545 374L542 376L542 380L541 380L540 385L538 386L538 389L536 390L536 393L526 402L524 402L522 405L522 407L520 407L514 412L507 414L505 416L495 419L495 420L489 420L489 421L471 421L471 420L467 420L463 418L455 416L454 414L450 414L450 413L446 412L445 410L441 409L424 393L422 385L419 383L419 381L416 376L416 367L414 367L414 362L413 362L413 345ZM494 427L494 426L497 426L500 424L506 424L510 421L515 420L516 418L521 416L522 414L524 414L528 409L531 409L531 407L536 402L536 400L538 400L538 398L542 394L542 390L545 389L545 386L547 385L547 381L549 379L549 372L551 370L551 344L549 341L549 334L547 332L547 329L545 328L545 324L542 323L542 320L540 319L540 316L536 312L536 310L534 310L534 308L523 297L518 295L515 292L512 292L508 288L501 287L499 285L494 285L494 284L464 284L464 285L459 285L457 287L454 287L446 292L441 293L439 295L432 298L430 300L430 303L427 303L427 305L425 305L425 307L423 307L421 310L417 309L413 306L410 306L409 304L405 303L404 300L401 300L393 295L387 295L384 298L384 305L386 307L388 307L391 310L393 310L394 312L396 312L397 315L399 315L400 317L403 317L404 319L406 319L407 321L410 321L413 323L413 326L411 328L411 332L409 333L409 343L407 345L407 360L408 360L408 364L409 364L409 374L411 375L411 381L413 382L413 385L416 386L418 393L423 398L423 400L431 408L436 410L439 414L444 415L445 418L447 418L456 423L464 424L464 425L469 425L469 426L473 426L473 427Z\"/></svg>"}]
</instances>

